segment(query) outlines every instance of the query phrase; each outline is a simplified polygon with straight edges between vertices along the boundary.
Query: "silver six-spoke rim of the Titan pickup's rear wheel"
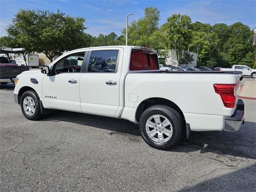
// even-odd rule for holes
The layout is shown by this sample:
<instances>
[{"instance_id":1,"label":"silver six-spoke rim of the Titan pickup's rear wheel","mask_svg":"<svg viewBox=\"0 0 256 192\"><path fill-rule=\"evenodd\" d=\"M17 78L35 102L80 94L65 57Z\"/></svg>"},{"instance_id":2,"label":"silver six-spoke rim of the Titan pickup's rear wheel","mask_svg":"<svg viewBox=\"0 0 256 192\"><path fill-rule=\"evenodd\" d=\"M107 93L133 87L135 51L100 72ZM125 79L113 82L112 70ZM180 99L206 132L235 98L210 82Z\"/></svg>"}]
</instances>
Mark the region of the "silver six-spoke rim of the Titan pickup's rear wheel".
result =
<instances>
[{"instance_id":1,"label":"silver six-spoke rim of the Titan pickup's rear wheel","mask_svg":"<svg viewBox=\"0 0 256 192\"><path fill-rule=\"evenodd\" d=\"M167 142L172 137L172 131L172 124L165 116L152 115L146 121L146 132L155 142Z\"/></svg>"}]
</instances>

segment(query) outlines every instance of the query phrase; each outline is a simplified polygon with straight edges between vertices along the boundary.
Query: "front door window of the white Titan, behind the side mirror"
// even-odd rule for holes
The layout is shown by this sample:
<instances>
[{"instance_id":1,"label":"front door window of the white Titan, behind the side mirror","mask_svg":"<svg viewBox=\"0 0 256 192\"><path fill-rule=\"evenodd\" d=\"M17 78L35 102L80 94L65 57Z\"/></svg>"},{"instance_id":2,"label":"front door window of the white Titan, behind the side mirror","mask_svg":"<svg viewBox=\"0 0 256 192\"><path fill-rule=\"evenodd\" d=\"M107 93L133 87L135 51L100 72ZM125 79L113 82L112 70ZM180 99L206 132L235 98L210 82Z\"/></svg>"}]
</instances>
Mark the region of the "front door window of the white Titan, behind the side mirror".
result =
<instances>
[{"instance_id":1,"label":"front door window of the white Titan, behind the side mirror","mask_svg":"<svg viewBox=\"0 0 256 192\"><path fill-rule=\"evenodd\" d=\"M55 74L64 72L80 72L84 60L84 53L76 53L60 60L54 65Z\"/></svg>"}]
</instances>

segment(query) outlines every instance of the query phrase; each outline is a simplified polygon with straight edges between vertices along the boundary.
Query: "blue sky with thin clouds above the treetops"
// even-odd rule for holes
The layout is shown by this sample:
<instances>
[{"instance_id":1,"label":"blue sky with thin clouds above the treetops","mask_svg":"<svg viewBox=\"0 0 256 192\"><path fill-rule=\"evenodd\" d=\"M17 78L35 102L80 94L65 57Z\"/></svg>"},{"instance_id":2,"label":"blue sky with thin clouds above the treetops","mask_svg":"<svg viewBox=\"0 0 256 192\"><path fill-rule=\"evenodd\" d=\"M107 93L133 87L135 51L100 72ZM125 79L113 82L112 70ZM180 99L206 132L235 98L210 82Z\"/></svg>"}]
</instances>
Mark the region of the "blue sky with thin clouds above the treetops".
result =
<instances>
[{"instance_id":1,"label":"blue sky with thin clouds above the treetops","mask_svg":"<svg viewBox=\"0 0 256 192\"><path fill-rule=\"evenodd\" d=\"M61 10L71 16L86 19L86 33L93 36L115 32L120 35L129 23L144 16L144 8L157 7L162 25L172 14L187 14L192 22L225 23L242 22L256 28L256 0L0 0L0 36L4 28L20 9Z\"/></svg>"}]
</instances>

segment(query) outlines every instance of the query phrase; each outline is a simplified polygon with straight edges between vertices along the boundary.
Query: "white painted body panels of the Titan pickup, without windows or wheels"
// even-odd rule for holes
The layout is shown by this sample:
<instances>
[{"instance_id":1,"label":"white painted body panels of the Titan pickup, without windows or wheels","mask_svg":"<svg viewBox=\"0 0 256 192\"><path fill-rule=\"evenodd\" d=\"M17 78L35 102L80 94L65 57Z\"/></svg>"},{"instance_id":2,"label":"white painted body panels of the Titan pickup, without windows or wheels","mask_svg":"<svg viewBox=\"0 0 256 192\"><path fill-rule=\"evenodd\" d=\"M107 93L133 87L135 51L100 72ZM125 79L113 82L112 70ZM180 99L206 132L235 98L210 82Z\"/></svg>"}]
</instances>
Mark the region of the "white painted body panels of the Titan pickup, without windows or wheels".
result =
<instances>
[{"instance_id":1,"label":"white painted body panels of the Titan pickup, without windows or wheels","mask_svg":"<svg viewBox=\"0 0 256 192\"><path fill-rule=\"evenodd\" d=\"M85 53L85 67L92 51L118 50L115 72L63 72L47 76L40 71L27 71L18 76L14 94L24 86L33 88L44 108L60 109L137 122L135 116L141 102L163 98L175 103L184 114L191 130L222 130L225 117L234 114L236 107L226 108L213 84L236 84L242 74L171 72L160 70L131 71L130 56L137 46L106 46L82 48L67 52L50 64L76 53ZM154 50L153 50L154 51ZM114 60L112 58L112 60ZM32 84L30 78L38 80ZM69 80L76 80L70 84ZM111 84L107 84L111 82ZM240 92L238 84L237 92ZM46 96L52 96L48 98Z\"/></svg>"}]
</instances>

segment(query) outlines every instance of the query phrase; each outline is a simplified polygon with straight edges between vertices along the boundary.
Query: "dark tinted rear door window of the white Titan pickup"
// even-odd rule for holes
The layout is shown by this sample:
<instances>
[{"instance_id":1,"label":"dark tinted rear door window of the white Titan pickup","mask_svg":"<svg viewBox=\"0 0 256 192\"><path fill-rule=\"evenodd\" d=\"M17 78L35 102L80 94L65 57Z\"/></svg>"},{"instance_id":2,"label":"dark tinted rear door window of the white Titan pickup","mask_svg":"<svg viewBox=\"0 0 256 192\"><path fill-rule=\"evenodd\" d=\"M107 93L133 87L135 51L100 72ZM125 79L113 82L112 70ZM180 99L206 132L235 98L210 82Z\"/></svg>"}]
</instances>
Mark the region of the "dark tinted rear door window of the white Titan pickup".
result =
<instances>
[{"instance_id":1,"label":"dark tinted rear door window of the white Titan pickup","mask_svg":"<svg viewBox=\"0 0 256 192\"><path fill-rule=\"evenodd\" d=\"M88 72L115 72L119 50L92 51Z\"/></svg>"}]
</instances>

